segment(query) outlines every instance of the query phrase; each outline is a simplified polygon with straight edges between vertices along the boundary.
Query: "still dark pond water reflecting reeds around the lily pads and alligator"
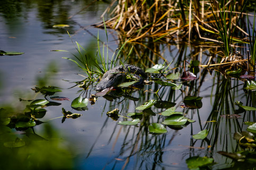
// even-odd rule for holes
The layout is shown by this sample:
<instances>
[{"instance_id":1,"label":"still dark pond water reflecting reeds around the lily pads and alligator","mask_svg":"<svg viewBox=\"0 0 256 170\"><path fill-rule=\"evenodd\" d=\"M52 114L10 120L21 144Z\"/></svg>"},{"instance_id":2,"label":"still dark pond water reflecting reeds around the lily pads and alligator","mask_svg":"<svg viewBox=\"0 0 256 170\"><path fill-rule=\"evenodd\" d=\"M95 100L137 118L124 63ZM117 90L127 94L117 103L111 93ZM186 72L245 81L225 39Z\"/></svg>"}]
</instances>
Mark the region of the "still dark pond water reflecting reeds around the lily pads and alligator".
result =
<instances>
[{"instance_id":1,"label":"still dark pond water reflecting reeds around the lily pads and alligator","mask_svg":"<svg viewBox=\"0 0 256 170\"><path fill-rule=\"evenodd\" d=\"M153 63L163 64L165 59L167 63L172 62L170 68L179 68L180 72L178 80L173 81L178 86L181 84L176 90L173 86L163 86L161 83L145 84L143 89L129 93L128 97L120 96L112 101L98 97L94 105L87 105L86 110L73 109L71 103L74 99L79 96L89 98L96 91L91 87L83 91L75 86L74 82L84 79L79 74L85 73L74 62L62 58L72 58L72 54L52 50L78 54L75 49L76 41L85 50L95 54L98 50L98 34L102 50L102 42L107 42L105 31L90 25L102 21L101 15L109 4L99 1L83 9L89 3L91 2L0 2L0 50L24 52L22 55L0 56L1 169L188 169L189 158L195 158L191 161L200 163L200 158L204 159L202 162L209 161L206 169L255 168L254 153L243 162L236 162L218 153L243 150L240 146L243 142L238 143L234 134L246 131L249 125L243 122L255 122L255 111L250 110L251 108L241 111L241 106L255 107L254 91L244 90L242 80L225 77L215 71L210 75L201 67L198 68L196 80L181 84L183 60L192 60L190 49L186 46L156 45L161 49L159 55L164 58L138 48L137 53L143 53L143 58L131 55L125 63L135 64L146 70L153 67ZM79 11L81 12L77 13ZM70 16L73 17L68 18ZM57 24L68 24L69 27L53 27ZM156 48L152 43L145 42L144 45ZM109 56L118 47L120 48L117 33L108 30ZM129 49L123 51L128 53ZM207 47L199 46L192 51L197 55L197 60L207 63ZM61 105L43 107L45 110L36 113L39 125L34 126L34 121L21 115L26 113L26 106L32 105L34 100L45 100L44 95L32 90L42 86L58 87L61 91L46 99ZM53 96L66 97L70 101L50 99ZM188 96L194 97L193 100L186 98ZM154 105L144 111L136 109L150 100L156 100L161 105ZM243 104L239 107L239 103L235 105L236 101ZM164 126L167 133L149 133L149 126L165 120L166 116L161 113L169 107L164 103L168 103L170 107L175 106L177 112L182 112L195 122L188 123L186 119L186 125ZM62 108L82 116L76 119L66 118L64 121ZM120 110L117 121L106 115L115 108ZM142 114L127 115L133 112ZM15 117L13 121L22 120L22 124L14 122L7 127L6 122L10 122L10 117L6 118L4 114ZM40 117L41 114L43 116ZM119 121L131 120L131 117L139 118L137 125L118 124ZM28 124L33 128L27 128ZM208 130L208 136L204 140L192 138L192 135L205 129ZM253 137L250 139L244 143L254 146ZM228 156L237 158L237 155ZM241 159L244 159L243 155Z\"/></svg>"}]
</instances>

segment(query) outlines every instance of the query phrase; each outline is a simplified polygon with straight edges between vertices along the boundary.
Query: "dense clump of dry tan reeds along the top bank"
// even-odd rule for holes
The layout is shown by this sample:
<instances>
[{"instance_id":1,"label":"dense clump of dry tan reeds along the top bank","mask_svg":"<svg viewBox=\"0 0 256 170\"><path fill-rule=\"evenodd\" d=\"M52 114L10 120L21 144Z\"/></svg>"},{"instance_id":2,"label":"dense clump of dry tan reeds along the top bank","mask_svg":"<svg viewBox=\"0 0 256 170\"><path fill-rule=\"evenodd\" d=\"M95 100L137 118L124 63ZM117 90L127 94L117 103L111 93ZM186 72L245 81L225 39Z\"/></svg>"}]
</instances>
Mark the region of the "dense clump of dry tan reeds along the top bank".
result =
<instances>
[{"instance_id":1,"label":"dense clump of dry tan reeds along the top bank","mask_svg":"<svg viewBox=\"0 0 256 170\"><path fill-rule=\"evenodd\" d=\"M199 37L202 40L225 43L230 49L231 41L243 42L243 37L231 35L239 26L238 20L247 1L122 1L113 0L110 18L104 24L118 30L122 36L131 37L129 42L152 37L154 41L169 37L183 40ZM105 13L104 12L104 13ZM217 23L216 23L217 21ZM202 34L203 33L203 34ZM222 36L224 33L224 36ZM238 35L238 34L237 34ZM195 39L193 39L195 41ZM170 41L166 39L166 41ZM227 45L228 44L228 45Z\"/></svg>"}]
</instances>

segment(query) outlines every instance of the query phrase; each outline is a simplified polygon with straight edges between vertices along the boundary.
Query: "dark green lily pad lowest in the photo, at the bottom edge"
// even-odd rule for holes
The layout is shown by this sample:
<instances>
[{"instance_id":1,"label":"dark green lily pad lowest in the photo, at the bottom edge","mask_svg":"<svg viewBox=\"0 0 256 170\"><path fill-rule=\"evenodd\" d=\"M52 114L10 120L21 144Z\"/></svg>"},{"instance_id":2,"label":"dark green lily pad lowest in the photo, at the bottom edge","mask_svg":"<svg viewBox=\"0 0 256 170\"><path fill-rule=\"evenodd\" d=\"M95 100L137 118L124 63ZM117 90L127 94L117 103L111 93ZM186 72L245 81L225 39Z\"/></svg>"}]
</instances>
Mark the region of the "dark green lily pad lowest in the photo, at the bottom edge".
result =
<instances>
[{"instance_id":1,"label":"dark green lily pad lowest in the photo, at the bottom edge","mask_svg":"<svg viewBox=\"0 0 256 170\"><path fill-rule=\"evenodd\" d=\"M213 164L214 159L208 157L193 156L186 159L186 163L189 169L199 169L200 167L208 166Z\"/></svg>"}]
</instances>

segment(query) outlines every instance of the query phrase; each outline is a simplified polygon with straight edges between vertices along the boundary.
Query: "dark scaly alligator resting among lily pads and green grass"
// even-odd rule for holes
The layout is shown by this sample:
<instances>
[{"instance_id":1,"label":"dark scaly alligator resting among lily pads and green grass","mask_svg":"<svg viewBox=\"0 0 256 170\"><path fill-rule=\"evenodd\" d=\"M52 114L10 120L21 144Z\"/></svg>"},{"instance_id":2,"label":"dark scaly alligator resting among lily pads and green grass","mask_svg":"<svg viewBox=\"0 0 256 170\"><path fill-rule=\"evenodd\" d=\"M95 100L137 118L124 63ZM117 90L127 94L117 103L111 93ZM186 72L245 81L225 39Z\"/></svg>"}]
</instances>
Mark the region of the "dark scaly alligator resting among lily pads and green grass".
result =
<instances>
[{"instance_id":1,"label":"dark scaly alligator resting among lily pads and green grass","mask_svg":"<svg viewBox=\"0 0 256 170\"><path fill-rule=\"evenodd\" d=\"M103 74L101 81L96 85L96 91L102 91L110 87L117 87L118 84L125 82L128 75L133 79L139 80L133 86L139 86L147 78L147 74L135 65L119 65Z\"/></svg>"}]
</instances>

